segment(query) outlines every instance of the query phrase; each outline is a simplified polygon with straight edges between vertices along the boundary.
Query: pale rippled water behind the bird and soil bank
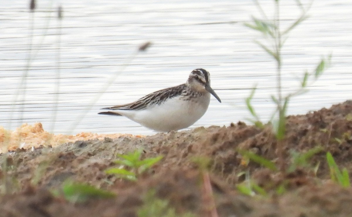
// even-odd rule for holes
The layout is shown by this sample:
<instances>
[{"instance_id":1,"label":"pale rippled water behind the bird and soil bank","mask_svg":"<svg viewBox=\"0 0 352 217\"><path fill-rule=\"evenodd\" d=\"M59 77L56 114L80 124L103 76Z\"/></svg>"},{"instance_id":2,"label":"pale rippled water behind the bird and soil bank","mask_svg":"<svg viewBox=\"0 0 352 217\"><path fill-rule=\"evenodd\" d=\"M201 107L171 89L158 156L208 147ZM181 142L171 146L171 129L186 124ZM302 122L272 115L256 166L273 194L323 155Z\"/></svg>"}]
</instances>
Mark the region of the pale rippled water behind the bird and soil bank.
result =
<instances>
[{"instance_id":1,"label":"pale rippled water behind the bird and soil bank","mask_svg":"<svg viewBox=\"0 0 352 217\"><path fill-rule=\"evenodd\" d=\"M261 2L265 10L271 10L272 1ZM22 122L42 122L44 129L52 128L60 23L53 12L58 2L43 3L38 2L34 13L34 57L26 81L23 120L18 120L21 106L13 106L13 100L27 65L30 13L27 2L20 0L0 5L0 126L5 128L15 129ZM283 27L296 17L293 3L282 8ZM309 19L291 32L283 50L285 93L298 87L304 71L313 70L322 55L332 53L333 59L310 91L290 102L289 114L304 114L351 98L351 6L349 0L315 1ZM62 7L61 86L54 133L153 134L124 117L97 113L100 108L184 83L196 68L210 72L222 103L212 97L207 113L191 128L227 126L250 117L244 100L256 84L253 106L264 121L270 118L275 62L253 43L258 33L243 26L252 14L258 15L252 1L102 0L63 2ZM134 56L147 41L152 46ZM114 74L118 74L115 82L89 109ZM20 95L17 104L22 99Z\"/></svg>"}]
</instances>

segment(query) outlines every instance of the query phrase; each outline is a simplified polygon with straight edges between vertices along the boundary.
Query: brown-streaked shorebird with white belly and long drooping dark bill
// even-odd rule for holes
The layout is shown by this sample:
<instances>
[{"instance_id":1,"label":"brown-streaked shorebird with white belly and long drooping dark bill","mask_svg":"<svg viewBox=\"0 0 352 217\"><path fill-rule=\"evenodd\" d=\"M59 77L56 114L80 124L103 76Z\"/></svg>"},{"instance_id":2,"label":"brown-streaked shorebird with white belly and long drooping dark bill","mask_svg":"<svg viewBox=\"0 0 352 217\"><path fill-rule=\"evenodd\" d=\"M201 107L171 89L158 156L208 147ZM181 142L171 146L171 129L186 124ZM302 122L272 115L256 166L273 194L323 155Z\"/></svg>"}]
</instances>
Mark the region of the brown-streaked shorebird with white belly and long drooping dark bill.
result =
<instances>
[{"instance_id":1,"label":"brown-streaked shorebird with white belly and long drooping dark bill","mask_svg":"<svg viewBox=\"0 0 352 217\"><path fill-rule=\"evenodd\" d=\"M101 115L125 116L157 132L171 132L187 128L207 111L212 94L221 100L210 87L210 74L195 69L186 83L158 90L139 100L107 108Z\"/></svg>"}]
</instances>

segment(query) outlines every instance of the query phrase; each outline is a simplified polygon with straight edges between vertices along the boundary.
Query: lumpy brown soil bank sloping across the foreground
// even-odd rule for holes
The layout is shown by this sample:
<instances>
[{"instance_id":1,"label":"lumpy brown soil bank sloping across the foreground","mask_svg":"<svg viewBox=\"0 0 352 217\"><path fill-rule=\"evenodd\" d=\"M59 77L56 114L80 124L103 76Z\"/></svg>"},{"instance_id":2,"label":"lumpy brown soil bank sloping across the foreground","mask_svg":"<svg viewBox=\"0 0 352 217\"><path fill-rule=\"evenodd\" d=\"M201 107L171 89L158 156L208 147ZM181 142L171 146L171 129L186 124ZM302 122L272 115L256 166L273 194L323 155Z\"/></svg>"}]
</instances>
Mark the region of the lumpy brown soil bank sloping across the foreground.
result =
<instances>
[{"instance_id":1,"label":"lumpy brown soil bank sloping across the foreground","mask_svg":"<svg viewBox=\"0 0 352 217\"><path fill-rule=\"evenodd\" d=\"M287 117L287 137L278 143L270 126L259 129L243 122L228 127L212 126L153 136L118 136L103 140L76 141L59 146L17 149L0 156L7 163L1 171L0 216L137 216L151 189L156 197L168 199L178 215L190 211L196 216L310 217L352 216L352 189L330 180L326 152L339 167L352 175L352 101L306 115ZM250 150L280 163L283 150L285 167L291 164L292 150L305 152L315 146L323 151L314 155L310 166L294 172L273 172L241 156L237 150ZM108 175L116 154L138 148L143 158L164 158L137 182ZM195 157L210 159L208 170L198 168ZM205 161L205 160L204 160ZM313 167L319 163L316 174ZM2 168L4 168L4 163ZM207 172L208 171L208 172ZM269 196L245 196L236 185L245 175L262 186ZM209 175L209 176L208 176ZM206 190L207 177L212 191ZM87 183L117 193L110 199L92 198L70 203L53 196L66 179ZM284 185L282 194L275 190ZM213 197L210 197L213 194ZM213 212L213 214L211 214Z\"/></svg>"}]
</instances>

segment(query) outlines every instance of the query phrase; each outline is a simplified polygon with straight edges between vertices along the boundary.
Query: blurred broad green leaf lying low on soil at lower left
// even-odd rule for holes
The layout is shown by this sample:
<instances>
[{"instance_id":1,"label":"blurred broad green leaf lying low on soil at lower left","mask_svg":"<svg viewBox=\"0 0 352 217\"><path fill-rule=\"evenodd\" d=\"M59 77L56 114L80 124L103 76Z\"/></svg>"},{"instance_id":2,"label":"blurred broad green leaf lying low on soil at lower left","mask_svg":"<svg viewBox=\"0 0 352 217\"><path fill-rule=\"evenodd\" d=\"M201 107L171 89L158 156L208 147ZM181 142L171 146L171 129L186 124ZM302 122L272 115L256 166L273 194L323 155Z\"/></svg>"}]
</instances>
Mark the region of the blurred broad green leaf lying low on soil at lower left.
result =
<instances>
[{"instance_id":1,"label":"blurred broad green leaf lying low on soil at lower left","mask_svg":"<svg viewBox=\"0 0 352 217\"><path fill-rule=\"evenodd\" d=\"M94 186L66 181L63 183L62 192L66 200L72 203L82 203L91 198L112 198L116 194Z\"/></svg>"}]
</instances>

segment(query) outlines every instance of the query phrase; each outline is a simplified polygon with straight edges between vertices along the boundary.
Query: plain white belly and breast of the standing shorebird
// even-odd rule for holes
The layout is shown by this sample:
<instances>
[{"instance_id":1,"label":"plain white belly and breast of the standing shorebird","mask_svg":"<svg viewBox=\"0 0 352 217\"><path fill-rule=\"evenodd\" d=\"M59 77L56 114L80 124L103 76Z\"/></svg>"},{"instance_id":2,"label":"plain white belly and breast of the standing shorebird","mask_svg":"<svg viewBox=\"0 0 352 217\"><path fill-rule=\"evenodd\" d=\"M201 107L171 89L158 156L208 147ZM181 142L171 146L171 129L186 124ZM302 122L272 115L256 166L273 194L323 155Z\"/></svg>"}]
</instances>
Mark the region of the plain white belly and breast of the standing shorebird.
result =
<instances>
[{"instance_id":1,"label":"plain white belly and breast of the standing shorebird","mask_svg":"<svg viewBox=\"0 0 352 217\"><path fill-rule=\"evenodd\" d=\"M129 119L141 125L162 132L187 128L199 120L207 111L210 94L192 100L182 100L174 97L160 105L154 105L144 110L134 111L134 114L125 114Z\"/></svg>"}]
</instances>

